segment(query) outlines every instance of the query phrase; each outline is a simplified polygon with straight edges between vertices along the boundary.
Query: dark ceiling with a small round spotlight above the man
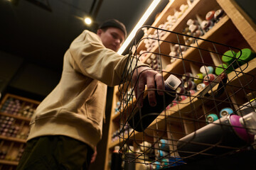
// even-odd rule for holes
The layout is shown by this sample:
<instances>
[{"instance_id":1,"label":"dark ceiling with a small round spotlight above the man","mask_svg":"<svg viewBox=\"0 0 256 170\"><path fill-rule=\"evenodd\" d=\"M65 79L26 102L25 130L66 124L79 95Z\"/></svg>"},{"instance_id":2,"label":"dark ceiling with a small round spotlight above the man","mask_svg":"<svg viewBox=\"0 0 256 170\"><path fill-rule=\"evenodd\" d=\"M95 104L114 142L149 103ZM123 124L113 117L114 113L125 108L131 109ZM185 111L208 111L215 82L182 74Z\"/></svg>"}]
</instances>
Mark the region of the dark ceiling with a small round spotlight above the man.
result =
<instances>
[{"instance_id":1,"label":"dark ceiling with a small round spotlight above the man","mask_svg":"<svg viewBox=\"0 0 256 170\"><path fill-rule=\"evenodd\" d=\"M169 0L161 0L146 25L154 22ZM116 18L132 31L149 0L0 0L0 50L26 62L62 70L63 55L82 30ZM82 18L95 17L90 28Z\"/></svg>"}]
</instances>

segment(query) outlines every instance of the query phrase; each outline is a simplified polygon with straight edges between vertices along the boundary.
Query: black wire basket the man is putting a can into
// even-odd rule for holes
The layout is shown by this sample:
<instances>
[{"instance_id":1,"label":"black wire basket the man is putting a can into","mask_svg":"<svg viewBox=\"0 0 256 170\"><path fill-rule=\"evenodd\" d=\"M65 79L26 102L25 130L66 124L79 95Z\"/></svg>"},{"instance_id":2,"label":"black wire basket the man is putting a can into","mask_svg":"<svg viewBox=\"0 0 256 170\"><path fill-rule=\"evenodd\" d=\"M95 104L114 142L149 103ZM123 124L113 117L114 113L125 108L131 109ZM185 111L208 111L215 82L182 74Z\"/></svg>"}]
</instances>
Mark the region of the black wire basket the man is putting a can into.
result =
<instances>
[{"instance_id":1,"label":"black wire basket the man is putting a can into","mask_svg":"<svg viewBox=\"0 0 256 170\"><path fill-rule=\"evenodd\" d=\"M149 29L154 36L146 35ZM256 115L255 66L243 60L242 52L185 33L150 26L138 30L119 84L122 158L162 169L254 149L256 129L250 121ZM137 108L132 86L136 82L131 79L137 74L131 63L137 61L149 64L164 79L174 75L181 80L175 93L156 94L159 109ZM144 102L146 91L139 96ZM168 101L170 95L174 97Z\"/></svg>"}]
</instances>

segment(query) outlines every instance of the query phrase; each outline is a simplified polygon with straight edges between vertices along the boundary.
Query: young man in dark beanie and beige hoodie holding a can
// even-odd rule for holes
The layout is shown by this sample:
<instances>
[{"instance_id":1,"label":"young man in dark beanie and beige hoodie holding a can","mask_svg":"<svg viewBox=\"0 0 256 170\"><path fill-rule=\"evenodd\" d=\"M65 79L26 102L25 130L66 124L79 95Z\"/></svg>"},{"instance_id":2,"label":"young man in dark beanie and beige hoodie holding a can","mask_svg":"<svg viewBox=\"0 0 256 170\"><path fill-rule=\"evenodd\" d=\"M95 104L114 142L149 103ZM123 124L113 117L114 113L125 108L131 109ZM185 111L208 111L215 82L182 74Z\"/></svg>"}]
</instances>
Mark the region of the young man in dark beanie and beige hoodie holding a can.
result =
<instances>
[{"instance_id":1,"label":"young man in dark beanie and beige hoodie holding a can","mask_svg":"<svg viewBox=\"0 0 256 170\"><path fill-rule=\"evenodd\" d=\"M41 102L31 120L26 149L17 169L87 169L102 135L107 85L118 85L127 56L116 52L126 36L117 20L106 21L97 34L84 30L64 55L59 84ZM161 74L138 63L139 94L163 89ZM138 96L138 95L137 95ZM149 103L156 105L154 91ZM139 103L142 105L142 99ZM95 154L93 154L95 152Z\"/></svg>"}]
</instances>

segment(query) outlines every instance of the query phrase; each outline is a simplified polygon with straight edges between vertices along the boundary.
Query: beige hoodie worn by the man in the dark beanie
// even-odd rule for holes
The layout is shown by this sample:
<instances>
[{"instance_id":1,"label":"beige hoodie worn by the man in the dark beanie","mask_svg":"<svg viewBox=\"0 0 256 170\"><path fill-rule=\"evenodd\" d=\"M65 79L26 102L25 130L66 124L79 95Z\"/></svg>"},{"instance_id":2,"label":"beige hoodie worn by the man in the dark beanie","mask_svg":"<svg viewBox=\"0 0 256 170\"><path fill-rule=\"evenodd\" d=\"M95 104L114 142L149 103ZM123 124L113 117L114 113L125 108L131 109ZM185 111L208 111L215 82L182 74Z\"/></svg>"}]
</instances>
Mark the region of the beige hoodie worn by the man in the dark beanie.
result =
<instances>
[{"instance_id":1,"label":"beige hoodie worn by the man in the dark beanie","mask_svg":"<svg viewBox=\"0 0 256 170\"><path fill-rule=\"evenodd\" d=\"M94 148L102 136L107 85L119 84L127 57L104 47L95 33L83 31L65 52L59 84L36 109L28 140L65 135ZM147 66L137 64L142 65Z\"/></svg>"}]
</instances>

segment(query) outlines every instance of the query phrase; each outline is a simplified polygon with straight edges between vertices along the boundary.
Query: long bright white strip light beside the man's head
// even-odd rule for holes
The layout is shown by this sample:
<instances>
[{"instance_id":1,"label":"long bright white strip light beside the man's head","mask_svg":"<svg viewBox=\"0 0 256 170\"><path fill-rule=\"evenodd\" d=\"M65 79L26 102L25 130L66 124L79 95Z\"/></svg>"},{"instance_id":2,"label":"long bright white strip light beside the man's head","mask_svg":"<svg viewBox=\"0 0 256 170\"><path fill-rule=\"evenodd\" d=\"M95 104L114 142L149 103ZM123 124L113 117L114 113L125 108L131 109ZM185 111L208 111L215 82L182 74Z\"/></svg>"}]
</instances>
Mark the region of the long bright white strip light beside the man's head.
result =
<instances>
[{"instance_id":1,"label":"long bright white strip light beside the man's head","mask_svg":"<svg viewBox=\"0 0 256 170\"><path fill-rule=\"evenodd\" d=\"M149 18L150 14L154 11L154 9L156 8L156 6L159 4L161 0L154 0L149 8L147 8L146 12L144 13L144 15L142 16L142 18L139 20L139 22L137 23L137 25L134 27L134 29L132 30L132 32L128 35L127 39L124 41L124 44L120 47L120 49L118 50L118 54L122 55L122 52L124 52L124 50L127 48L127 46L129 45L129 43L132 41L132 39L134 38L135 34L137 33L137 30L139 28L141 28L143 26L143 24L145 23L145 21L147 20L147 18Z\"/></svg>"}]
</instances>

